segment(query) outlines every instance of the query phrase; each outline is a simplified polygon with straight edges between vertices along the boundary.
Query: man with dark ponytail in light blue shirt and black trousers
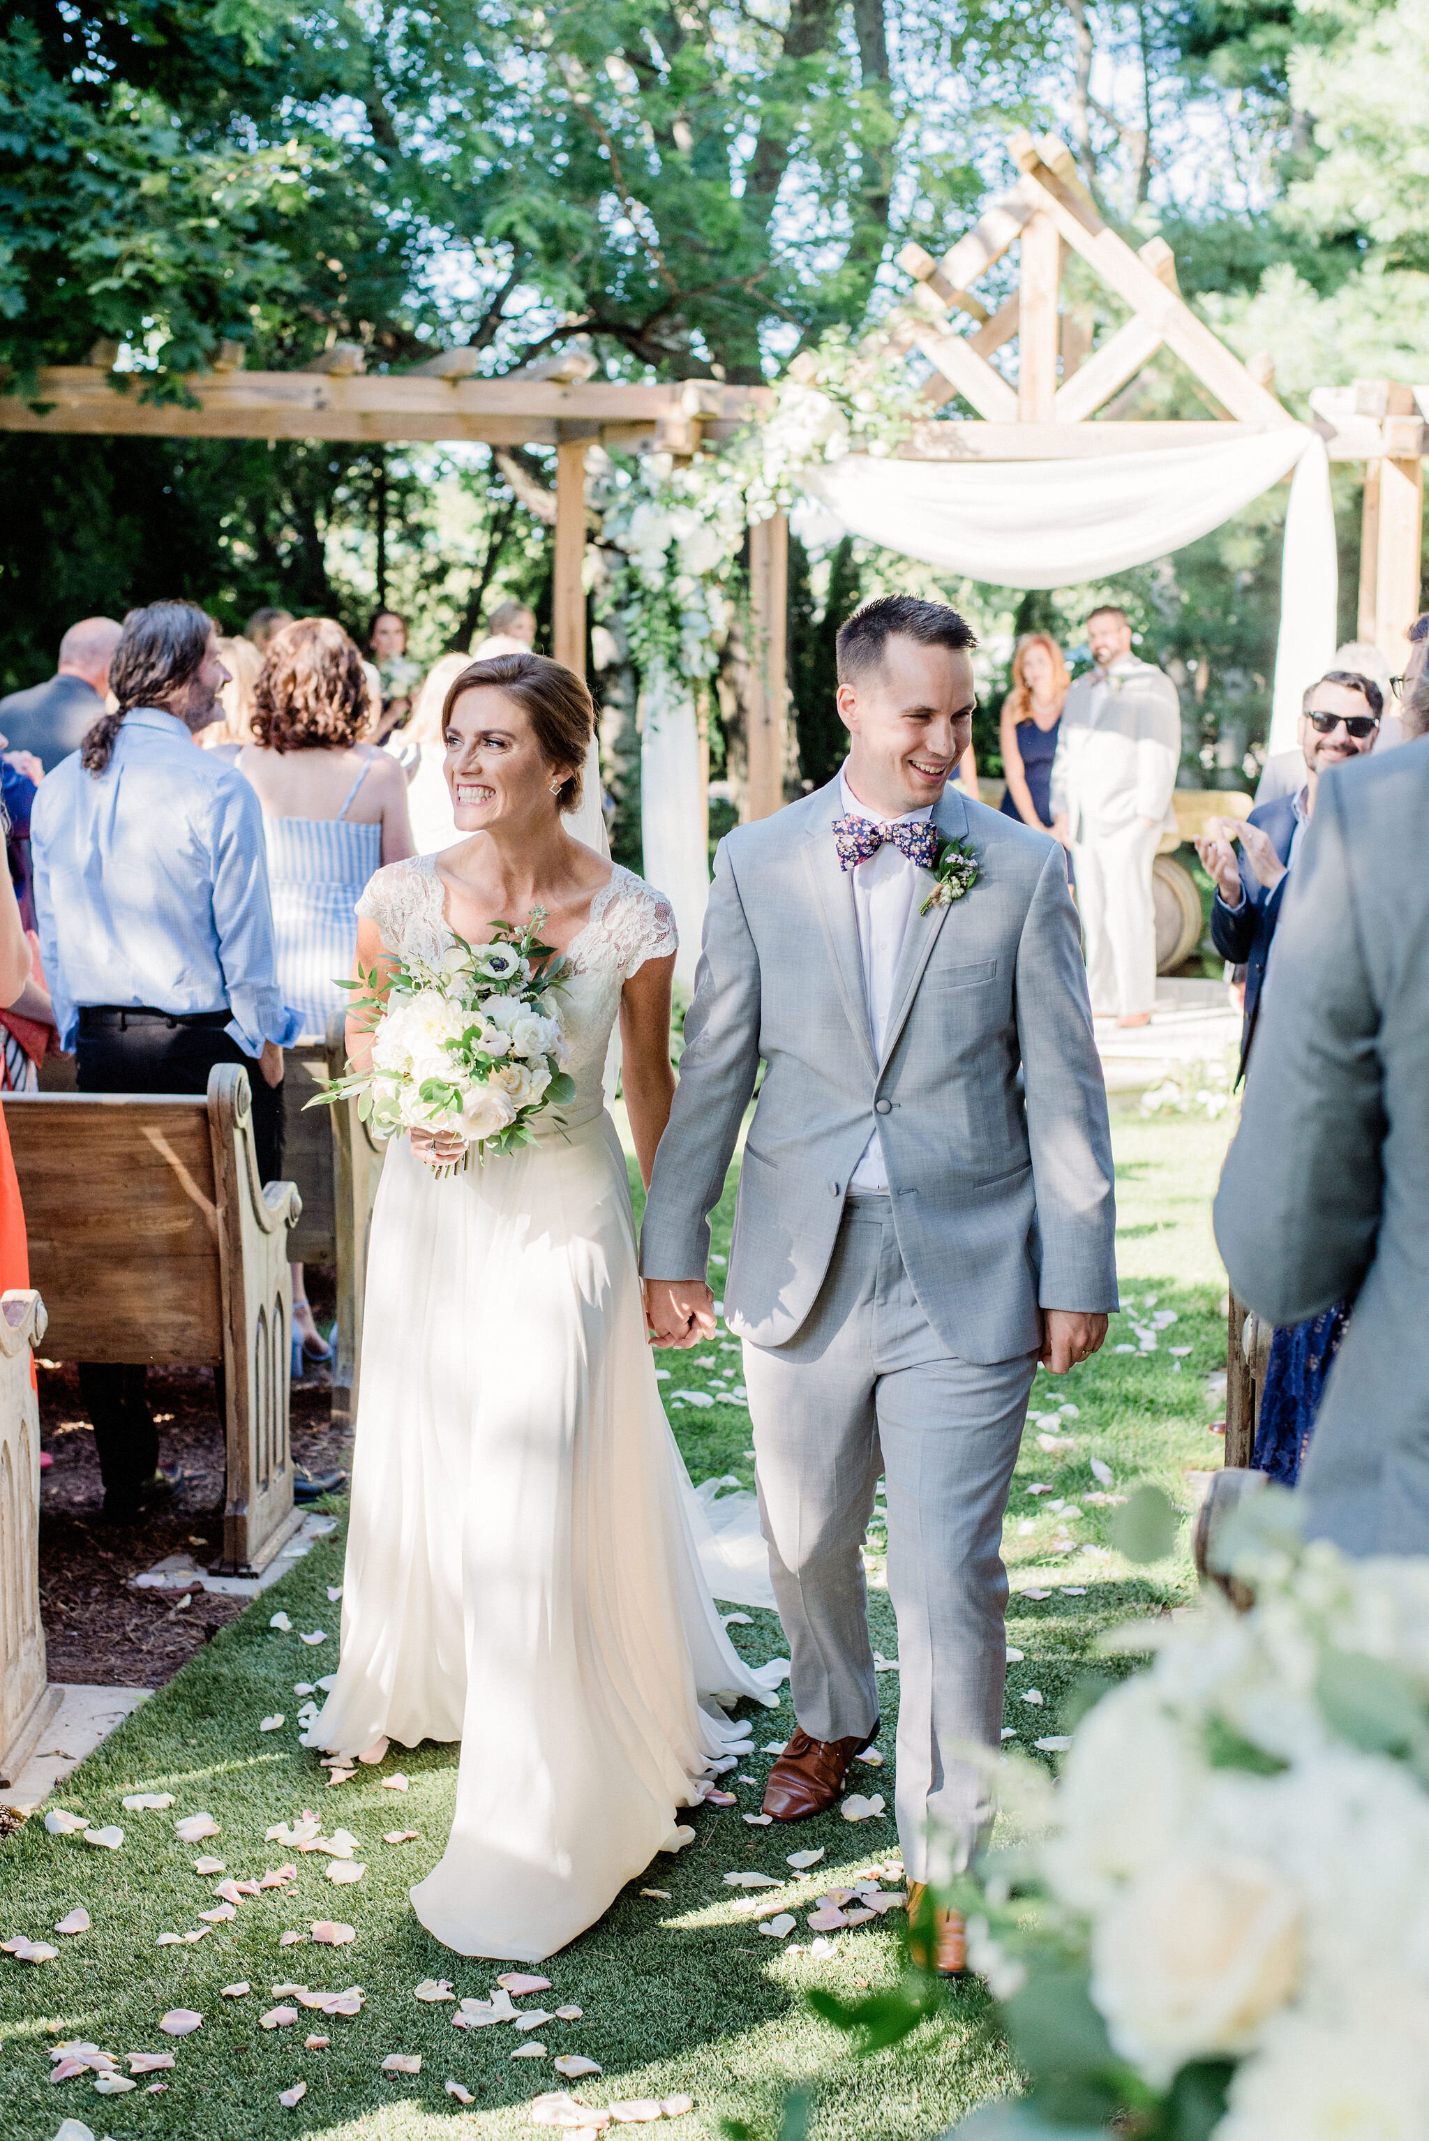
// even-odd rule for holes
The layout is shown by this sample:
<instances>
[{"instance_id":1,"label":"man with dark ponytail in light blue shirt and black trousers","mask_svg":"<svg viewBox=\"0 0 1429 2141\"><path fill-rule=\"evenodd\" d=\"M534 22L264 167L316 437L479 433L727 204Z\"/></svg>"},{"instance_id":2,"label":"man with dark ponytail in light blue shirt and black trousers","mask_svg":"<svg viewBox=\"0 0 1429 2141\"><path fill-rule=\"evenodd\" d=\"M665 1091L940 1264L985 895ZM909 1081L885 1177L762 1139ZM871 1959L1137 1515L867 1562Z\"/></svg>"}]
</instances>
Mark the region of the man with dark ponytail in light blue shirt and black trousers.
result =
<instances>
[{"instance_id":1,"label":"man with dark ponytail in light blue shirt and black trousers","mask_svg":"<svg viewBox=\"0 0 1429 2141\"><path fill-rule=\"evenodd\" d=\"M60 1041L81 1092L205 1092L244 1064L263 1180L280 1171L285 1011L248 781L195 734L227 670L193 602L130 610L113 651L118 711L103 715L34 799L34 904ZM145 1368L79 1364L105 1516L173 1494L160 1473ZM222 1404L220 1404L222 1409Z\"/></svg>"}]
</instances>

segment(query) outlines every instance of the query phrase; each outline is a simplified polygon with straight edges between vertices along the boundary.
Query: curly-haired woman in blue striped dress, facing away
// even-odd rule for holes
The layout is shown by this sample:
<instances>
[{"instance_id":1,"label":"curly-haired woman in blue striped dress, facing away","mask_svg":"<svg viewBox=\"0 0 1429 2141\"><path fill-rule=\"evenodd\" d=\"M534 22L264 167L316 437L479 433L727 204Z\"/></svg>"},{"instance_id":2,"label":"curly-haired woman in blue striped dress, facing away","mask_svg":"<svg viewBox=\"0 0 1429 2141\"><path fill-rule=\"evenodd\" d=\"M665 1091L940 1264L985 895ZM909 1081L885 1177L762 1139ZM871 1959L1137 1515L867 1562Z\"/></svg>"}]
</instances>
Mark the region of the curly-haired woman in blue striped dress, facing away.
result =
<instances>
[{"instance_id":1,"label":"curly-haired woman in blue striped dress, facing away","mask_svg":"<svg viewBox=\"0 0 1429 2141\"><path fill-rule=\"evenodd\" d=\"M278 940L278 987L302 1019L299 1041L321 1041L347 1000L357 914L368 878L413 852L406 777L394 758L359 743L370 722L362 655L329 617L304 617L274 636L255 687L255 741L237 766L263 805L267 882ZM327 1360L293 1265L293 1349Z\"/></svg>"}]
</instances>

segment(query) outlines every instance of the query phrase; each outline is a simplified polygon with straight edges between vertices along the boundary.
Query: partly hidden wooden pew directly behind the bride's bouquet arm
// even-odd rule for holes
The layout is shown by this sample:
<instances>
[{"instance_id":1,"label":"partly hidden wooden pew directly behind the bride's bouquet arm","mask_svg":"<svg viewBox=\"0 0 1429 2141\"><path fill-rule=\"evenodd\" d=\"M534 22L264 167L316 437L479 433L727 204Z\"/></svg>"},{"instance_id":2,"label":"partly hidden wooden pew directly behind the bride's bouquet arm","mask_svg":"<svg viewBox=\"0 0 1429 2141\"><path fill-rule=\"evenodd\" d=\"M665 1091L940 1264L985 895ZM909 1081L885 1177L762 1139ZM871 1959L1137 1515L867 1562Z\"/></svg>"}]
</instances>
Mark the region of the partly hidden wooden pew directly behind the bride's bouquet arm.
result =
<instances>
[{"instance_id":1,"label":"partly hidden wooden pew directly behind the bride's bouquet arm","mask_svg":"<svg viewBox=\"0 0 1429 2141\"><path fill-rule=\"evenodd\" d=\"M347 1070L342 1011L334 1011L325 1043L285 1051L282 1165L297 1184L302 1218L289 1237L293 1263L332 1263L338 1274L338 1349L332 1364L332 1419L357 1419L362 1302L368 1287L368 1235L383 1173L381 1145L357 1115L355 1100L336 1107L306 1103L325 1079Z\"/></svg>"}]
</instances>

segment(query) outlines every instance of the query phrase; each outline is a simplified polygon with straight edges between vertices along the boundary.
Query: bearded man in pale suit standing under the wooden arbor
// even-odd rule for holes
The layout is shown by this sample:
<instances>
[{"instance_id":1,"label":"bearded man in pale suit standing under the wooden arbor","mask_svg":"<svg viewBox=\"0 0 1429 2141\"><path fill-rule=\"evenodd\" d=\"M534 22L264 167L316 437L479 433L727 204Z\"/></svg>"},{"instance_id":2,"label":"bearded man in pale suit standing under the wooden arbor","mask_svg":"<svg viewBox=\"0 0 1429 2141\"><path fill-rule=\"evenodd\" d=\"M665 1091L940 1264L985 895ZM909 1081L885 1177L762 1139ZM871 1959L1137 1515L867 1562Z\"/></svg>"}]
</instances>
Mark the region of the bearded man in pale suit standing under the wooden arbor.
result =
<instances>
[{"instance_id":1,"label":"bearded man in pale suit standing under the wooden arbor","mask_svg":"<svg viewBox=\"0 0 1429 2141\"><path fill-rule=\"evenodd\" d=\"M1067 692L1052 760L1052 833L1072 848L1097 1017L1149 1026L1155 1002L1151 867L1174 833L1181 702L1170 677L1132 653L1132 619L1102 604L1087 619L1095 668Z\"/></svg>"}]
</instances>

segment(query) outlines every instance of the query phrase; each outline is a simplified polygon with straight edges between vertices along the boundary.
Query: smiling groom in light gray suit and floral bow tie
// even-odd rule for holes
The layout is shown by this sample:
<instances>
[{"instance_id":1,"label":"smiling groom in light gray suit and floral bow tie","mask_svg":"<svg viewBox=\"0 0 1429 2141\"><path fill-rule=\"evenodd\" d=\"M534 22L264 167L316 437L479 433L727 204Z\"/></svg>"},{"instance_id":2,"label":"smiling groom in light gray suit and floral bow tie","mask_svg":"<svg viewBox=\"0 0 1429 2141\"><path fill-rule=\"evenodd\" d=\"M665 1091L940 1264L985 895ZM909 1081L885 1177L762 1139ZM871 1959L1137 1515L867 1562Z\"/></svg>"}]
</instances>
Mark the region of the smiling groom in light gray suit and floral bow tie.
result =
<instances>
[{"instance_id":1,"label":"smiling groom in light gray suit and floral bow tie","mask_svg":"<svg viewBox=\"0 0 1429 2141\"><path fill-rule=\"evenodd\" d=\"M706 1216L764 1062L725 1282L798 1715L764 1811L821 1813L877 1732L860 1548L886 1473L913 1884L990 1816L965 1749L999 1745L1001 1520L1035 1366L1087 1360L1117 1306L1065 859L948 786L973 644L939 602L864 604L839 632L843 771L721 841L642 1237L657 1345L704 1345ZM941 1925L939 1968L958 1944Z\"/></svg>"}]
</instances>

